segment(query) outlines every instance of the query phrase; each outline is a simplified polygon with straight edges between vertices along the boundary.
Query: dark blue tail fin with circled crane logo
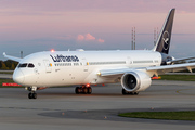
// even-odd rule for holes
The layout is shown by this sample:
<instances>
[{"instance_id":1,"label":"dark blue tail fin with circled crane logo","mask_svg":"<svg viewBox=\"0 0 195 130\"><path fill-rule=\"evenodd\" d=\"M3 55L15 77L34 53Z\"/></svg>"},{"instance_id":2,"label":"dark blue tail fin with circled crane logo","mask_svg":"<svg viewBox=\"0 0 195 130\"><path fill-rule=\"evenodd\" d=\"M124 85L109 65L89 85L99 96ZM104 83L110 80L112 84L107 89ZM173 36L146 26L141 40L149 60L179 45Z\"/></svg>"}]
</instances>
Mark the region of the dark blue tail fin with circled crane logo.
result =
<instances>
[{"instance_id":1,"label":"dark blue tail fin with circled crane logo","mask_svg":"<svg viewBox=\"0 0 195 130\"><path fill-rule=\"evenodd\" d=\"M153 51L169 53L174 11L176 9L170 10Z\"/></svg>"}]
</instances>

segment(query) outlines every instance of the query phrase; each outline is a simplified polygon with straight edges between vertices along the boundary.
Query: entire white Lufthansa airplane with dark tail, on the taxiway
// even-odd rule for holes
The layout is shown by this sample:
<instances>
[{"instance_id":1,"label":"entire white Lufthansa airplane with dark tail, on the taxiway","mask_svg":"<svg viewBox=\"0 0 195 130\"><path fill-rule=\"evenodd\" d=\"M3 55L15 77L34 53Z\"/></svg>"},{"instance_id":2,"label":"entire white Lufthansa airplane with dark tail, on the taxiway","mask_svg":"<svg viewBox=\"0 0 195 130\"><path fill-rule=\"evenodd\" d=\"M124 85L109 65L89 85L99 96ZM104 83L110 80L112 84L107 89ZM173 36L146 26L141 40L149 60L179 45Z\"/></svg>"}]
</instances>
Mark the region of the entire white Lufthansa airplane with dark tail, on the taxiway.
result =
<instances>
[{"instance_id":1,"label":"entire white Lufthansa airplane with dark tail, on the taxiway","mask_svg":"<svg viewBox=\"0 0 195 130\"><path fill-rule=\"evenodd\" d=\"M92 93L92 84L121 82L122 94L138 95L152 83L152 77L168 72L195 68L195 63L174 64L169 55L176 9L171 9L152 50L43 51L24 58L3 55L20 62L13 80L25 86L28 99L48 87L77 86L75 93Z\"/></svg>"}]
</instances>

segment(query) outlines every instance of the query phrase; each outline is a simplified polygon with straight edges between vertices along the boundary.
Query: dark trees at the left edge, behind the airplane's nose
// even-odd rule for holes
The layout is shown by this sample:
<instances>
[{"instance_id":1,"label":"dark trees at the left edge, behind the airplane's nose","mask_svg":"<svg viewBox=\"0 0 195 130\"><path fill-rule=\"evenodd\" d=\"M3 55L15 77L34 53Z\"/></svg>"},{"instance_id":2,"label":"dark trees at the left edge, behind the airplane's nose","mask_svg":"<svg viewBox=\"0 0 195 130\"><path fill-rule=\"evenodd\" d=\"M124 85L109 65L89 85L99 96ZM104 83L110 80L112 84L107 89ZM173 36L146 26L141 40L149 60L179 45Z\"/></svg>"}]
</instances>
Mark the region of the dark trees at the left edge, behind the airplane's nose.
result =
<instances>
[{"instance_id":1,"label":"dark trees at the left edge, behind the airplane's nose","mask_svg":"<svg viewBox=\"0 0 195 130\"><path fill-rule=\"evenodd\" d=\"M14 70L17 66L18 62L6 60L6 61L0 61L0 69L3 70Z\"/></svg>"}]
</instances>

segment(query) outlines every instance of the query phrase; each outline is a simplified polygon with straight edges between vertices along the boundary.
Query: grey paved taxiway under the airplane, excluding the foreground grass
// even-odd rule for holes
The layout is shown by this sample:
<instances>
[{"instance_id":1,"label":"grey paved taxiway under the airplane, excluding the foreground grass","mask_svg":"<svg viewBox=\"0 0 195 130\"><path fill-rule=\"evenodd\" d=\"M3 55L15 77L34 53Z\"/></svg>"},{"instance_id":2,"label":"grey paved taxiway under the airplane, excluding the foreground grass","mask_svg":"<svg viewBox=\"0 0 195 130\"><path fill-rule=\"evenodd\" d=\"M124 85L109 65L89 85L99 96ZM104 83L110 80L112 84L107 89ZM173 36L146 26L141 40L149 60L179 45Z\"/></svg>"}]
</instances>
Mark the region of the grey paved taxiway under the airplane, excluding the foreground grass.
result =
<instances>
[{"instance_id":1,"label":"grey paved taxiway under the airplane, excluding the foreground grass","mask_svg":"<svg viewBox=\"0 0 195 130\"><path fill-rule=\"evenodd\" d=\"M167 130L195 129L194 121L118 117L123 112L195 110L195 82L154 80L139 95L122 95L120 84L93 87L92 94L74 88L48 88L29 100L24 88L0 88L0 128L14 130Z\"/></svg>"}]
</instances>

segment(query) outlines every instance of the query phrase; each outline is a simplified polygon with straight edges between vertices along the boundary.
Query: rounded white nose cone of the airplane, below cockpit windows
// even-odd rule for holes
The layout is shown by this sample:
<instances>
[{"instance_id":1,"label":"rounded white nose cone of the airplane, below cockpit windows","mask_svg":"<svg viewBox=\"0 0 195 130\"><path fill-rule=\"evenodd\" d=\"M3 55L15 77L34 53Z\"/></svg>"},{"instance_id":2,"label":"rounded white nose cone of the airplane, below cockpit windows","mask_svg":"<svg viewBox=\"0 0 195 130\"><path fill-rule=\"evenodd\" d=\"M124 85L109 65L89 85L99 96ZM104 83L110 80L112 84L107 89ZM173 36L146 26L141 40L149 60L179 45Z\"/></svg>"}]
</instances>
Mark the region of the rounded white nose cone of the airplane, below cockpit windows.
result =
<instances>
[{"instance_id":1,"label":"rounded white nose cone of the airplane, below cockpit windows","mask_svg":"<svg viewBox=\"0 0 195 130\"><path fill-rule=\"evenodd\" d=\"M25 79L25 77L24 77L23 72L20 69L16 69L13 74L13 80L18 84L23 84L24 79Z\"/></svg>"}]
</instances>

